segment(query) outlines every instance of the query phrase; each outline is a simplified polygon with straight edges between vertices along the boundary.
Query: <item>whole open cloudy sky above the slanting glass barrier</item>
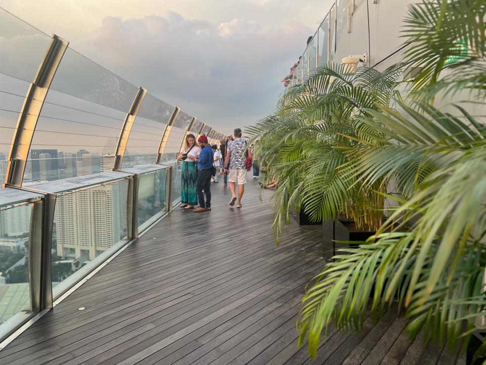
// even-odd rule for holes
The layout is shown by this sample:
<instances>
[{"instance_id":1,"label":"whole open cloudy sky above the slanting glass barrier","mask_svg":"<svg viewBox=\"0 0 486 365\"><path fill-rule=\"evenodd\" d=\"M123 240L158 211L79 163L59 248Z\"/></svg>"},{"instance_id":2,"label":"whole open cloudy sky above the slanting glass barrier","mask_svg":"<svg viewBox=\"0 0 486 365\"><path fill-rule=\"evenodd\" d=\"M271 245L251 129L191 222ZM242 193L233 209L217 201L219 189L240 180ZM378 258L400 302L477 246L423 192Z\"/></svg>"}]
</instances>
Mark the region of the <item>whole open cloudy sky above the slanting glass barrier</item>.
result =
<instances>
[{"instance_id":1,"label":"whole open cloudy sky above the slanting glass barrier","mask_svg":"<svg viewBox=\"0 0 486 365\"><path fill-rule=\"evenodd\" d=\"M229 134L272 113L332 0L0 0L0 7Z\"/></svg>"}]
</instances>

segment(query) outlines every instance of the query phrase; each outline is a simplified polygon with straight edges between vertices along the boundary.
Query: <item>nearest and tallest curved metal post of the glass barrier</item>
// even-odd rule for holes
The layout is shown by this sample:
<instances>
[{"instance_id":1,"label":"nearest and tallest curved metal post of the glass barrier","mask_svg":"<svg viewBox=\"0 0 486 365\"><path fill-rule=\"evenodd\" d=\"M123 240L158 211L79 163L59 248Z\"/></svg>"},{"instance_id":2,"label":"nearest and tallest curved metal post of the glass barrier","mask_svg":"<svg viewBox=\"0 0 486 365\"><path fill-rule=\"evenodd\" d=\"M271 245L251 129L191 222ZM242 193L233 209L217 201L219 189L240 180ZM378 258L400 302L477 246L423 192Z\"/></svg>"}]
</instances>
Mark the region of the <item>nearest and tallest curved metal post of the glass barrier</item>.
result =
<instances>
[{"instance_id":1,"label":"nearest and tallest curved metal post of the glass barrier","mask_svg":"<svg viewBox=\"0 0 486 365\"><path fill-rule=\"evenodd\" d=\"M68 44L69 42L56 34L52 36L51 44L37 70L34 81L27 90L10 146L4 186L22 186L25 165L27 164L37 120L41 115L47 92Z\"/></svg>"}]
</instances>

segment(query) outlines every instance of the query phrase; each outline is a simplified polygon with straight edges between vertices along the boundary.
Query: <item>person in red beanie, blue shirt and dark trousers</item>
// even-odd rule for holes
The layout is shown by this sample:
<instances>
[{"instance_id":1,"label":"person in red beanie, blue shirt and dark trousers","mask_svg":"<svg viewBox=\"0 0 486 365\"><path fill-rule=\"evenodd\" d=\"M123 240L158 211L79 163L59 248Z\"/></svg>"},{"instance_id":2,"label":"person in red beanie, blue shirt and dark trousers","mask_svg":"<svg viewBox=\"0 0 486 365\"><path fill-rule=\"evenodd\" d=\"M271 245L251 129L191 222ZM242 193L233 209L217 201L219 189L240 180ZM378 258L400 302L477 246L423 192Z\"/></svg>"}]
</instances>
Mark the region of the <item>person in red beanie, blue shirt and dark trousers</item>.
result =
<instances>
[{"instance_id":1,"label":"person in red beanie, blue shirt and dark trousers","mask_svg":"<svg viewBox=\"0 0 486 365\"><path fill-rule=\"evenodd\" d=\"M201 146L201 153L196 159L197 162L197 198L199 200L199 207L194 209L195 212L203 212L211 210L211 170L214 164L214 153L211 146L208 144L208 137L205 134L197 138ZM204 190L204 193L203 193ZM206 194L206 201L204 195Z\"/></svg>"}]
</instances>

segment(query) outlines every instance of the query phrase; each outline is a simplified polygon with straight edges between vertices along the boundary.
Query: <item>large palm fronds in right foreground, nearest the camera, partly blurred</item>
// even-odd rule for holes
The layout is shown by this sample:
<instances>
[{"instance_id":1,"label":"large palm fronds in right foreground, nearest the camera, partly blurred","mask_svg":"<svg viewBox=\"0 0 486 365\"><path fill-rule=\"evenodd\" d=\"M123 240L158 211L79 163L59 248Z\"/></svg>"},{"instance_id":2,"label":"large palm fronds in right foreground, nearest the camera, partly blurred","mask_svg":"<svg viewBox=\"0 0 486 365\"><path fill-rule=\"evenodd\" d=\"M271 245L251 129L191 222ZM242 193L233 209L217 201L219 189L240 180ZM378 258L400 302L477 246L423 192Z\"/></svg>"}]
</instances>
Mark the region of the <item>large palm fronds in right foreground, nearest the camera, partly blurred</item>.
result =
<instances>
[{"instance_id":1,"label":"large palm fronds in right foreground, nearest the camera, partly blurred","mask_svg":"<svg viewBox=\"0 0 486 365\"><path fill-rule=\"evenodd\" d=\"M467 112L486 106L485 15L483 0L410 8L406 67L421 67L413 91L397 100L400 112L362 110L348 135L360 136L361 149L338 168L343 184L358 188L395 178L401 198L388 197L400 205L375 237L340 252L307 290L298 327L311 355L330 324L360 330L369 306L377 319L393 298L411 318L412 337L424 330L426 339L450 346L467 344L486 315L486 127ZM463 90L472 108L462 102L445 113L434 106L438 96ZM410 230L399 232L405 224ZM483 345L476 356L485 352Z\"/></svg>"}]
</instances>

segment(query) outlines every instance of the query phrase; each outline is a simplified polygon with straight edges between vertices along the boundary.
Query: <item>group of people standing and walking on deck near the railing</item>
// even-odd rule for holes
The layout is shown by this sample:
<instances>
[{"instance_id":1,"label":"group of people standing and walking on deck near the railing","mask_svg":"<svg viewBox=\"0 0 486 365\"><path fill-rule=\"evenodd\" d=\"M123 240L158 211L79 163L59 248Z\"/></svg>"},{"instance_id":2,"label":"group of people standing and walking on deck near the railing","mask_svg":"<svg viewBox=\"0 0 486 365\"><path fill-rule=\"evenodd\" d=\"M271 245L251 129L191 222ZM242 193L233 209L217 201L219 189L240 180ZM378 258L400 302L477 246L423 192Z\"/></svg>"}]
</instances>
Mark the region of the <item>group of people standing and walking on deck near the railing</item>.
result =
<instances>
[{"instance_id":1,"label":"group of people standing and walking on deck near the railing","mask_svg":"<svg viewBox=\"0 0 486 365\"><path fill-rule=\"evenodd\" d=\"M229 182L229 205L236 204L237 208L241 208L241 198L247 182L247 161L252 160L252 151L241 135L241 129L236 128L234 138L229 136L220 141L219 150L217 145L211 146L208 143L208 137L204 134L197 138L197 141L193 134L186 136L178 156L178 159L182 160L181 208L193 209L194 212L210 211L211 182L218 182L221 172L224 175L224 186Z\"/></svg>"}]
</instances>

